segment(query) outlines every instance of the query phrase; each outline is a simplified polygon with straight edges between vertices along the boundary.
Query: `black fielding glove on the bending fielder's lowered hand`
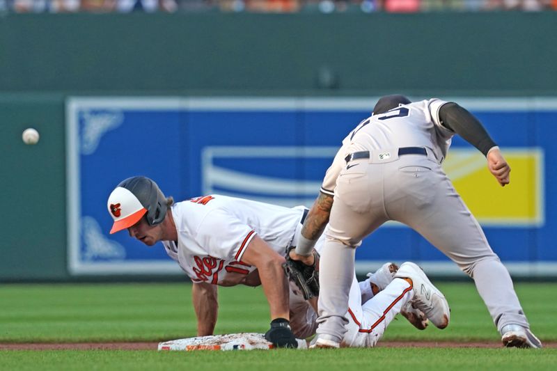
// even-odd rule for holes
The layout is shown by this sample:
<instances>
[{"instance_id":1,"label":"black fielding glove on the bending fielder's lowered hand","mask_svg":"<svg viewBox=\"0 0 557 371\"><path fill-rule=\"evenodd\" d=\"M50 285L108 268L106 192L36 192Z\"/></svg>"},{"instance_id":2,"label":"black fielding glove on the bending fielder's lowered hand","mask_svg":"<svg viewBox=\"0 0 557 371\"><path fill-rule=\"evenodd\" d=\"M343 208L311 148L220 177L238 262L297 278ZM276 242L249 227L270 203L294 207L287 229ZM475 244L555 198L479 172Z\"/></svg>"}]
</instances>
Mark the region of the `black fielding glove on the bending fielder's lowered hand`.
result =
<instances>
[{"instance_id":1,"label":"black fielding glove on the bending fielder's lowered hand","mask_svg":"<svg viewBox=\"0 0 557 371\"><path fill-rule=\"evenodd\" d=\"M313 265L305 265L299 260L290 258L290 250L295 246L290 246L286 251L286 262L283 264L288 280L292 281L304 299L308 300L312 297L319 296L319 254L313 251Z\"/></svg>"}]
</instances>

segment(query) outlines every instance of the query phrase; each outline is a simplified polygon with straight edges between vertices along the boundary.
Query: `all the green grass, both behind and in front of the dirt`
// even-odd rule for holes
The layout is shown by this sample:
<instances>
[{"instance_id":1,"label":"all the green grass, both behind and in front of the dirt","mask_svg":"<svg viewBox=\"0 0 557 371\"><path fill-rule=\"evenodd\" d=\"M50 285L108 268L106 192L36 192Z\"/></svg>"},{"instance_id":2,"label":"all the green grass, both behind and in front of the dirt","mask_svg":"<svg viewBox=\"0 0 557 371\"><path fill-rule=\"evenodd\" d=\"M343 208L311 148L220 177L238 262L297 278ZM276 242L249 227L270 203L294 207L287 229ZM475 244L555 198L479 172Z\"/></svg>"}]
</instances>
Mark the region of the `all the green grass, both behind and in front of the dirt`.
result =
<instances>
[{"instance_id":1,"label":"all the green grass, both behind and in front of the dirt","mask_svg":"<svg viewBox=\"0 0 557 371\"><path fill-rule=\"evenodd\" d=\"M438 283L451 306L445 330L418 331L397 317L384 340L499 341L487 309L471 283ZM545 342L557 340L557 284L519 283L532 329ZM553 293L553 294L551 294ZM267 301L260 288L219 288L216 333L265 332ZM3 285L0 342L159 341L195 336L191 286L172 284ZM298 352L0 351L0 370L260 368L520 369L553 370L557 349L339 349Z\"/></svg>"}]
</instances>

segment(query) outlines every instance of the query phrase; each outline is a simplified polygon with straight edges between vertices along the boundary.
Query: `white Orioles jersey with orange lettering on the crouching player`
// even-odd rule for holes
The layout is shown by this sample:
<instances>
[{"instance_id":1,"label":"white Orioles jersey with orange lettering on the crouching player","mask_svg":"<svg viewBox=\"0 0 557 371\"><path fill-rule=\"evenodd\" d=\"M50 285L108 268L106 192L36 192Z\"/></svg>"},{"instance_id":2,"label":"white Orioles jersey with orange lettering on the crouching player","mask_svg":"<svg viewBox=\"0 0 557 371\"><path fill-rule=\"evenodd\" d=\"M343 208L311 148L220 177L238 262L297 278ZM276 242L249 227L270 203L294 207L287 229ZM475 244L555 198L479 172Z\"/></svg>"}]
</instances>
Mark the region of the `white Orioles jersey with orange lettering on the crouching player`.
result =
<instances>
[{"instance_id":1,"label":"white Orioles jersey with orange lettering on the crouching player","mask_svg":"<svg viewBox=\"0 0 557 371\"><path fill-rule=\"evenodd\" d=\"M194 283L227 283L226 276L247 275L256 267L242 262L257 234L284 255L299 226L304 207L281 207L242 198L211 195L175 203L171 207L178 230L178 246L163 241ZM228 284L227 284L228 285Z\"/></svg>"}]
</instances>

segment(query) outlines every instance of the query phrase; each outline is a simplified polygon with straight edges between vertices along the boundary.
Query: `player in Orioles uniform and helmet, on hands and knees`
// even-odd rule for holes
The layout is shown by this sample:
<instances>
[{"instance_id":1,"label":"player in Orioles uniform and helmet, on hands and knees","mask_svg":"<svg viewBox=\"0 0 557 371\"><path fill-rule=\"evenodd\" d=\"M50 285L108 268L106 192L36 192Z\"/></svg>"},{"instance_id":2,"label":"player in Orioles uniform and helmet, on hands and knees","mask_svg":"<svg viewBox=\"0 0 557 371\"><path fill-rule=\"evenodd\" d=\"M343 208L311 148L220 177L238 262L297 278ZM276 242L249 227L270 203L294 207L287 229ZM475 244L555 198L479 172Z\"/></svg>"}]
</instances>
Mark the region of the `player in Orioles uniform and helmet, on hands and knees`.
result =
<instances>
[{"instance_id":1,"label":"player in Orioles uniform and helmet, on hands and knees","mask_svg":"<svg viewBox=\"0 0 557 371\"><path fill-rule=\"evenodd\" d=\"M217 322L217 285L262 285L272 322L265 338L278 347L297 347L317 329L318 287L288 285L283 264L286 248L301 233L308 210L211 195L174 203L147 177L131 177L109 196L111 233L127 229L130 237L148 246L162 241L166 253L194 282L193 303L198 336L212 335ZM320 249L322 242L317 242ZM312 254L316 265L318 255ZM305 300L304 295L308 301ZM313 306L312 306L313 304ZM448 325L449 308L443 294L414 263L398 269L386 263L361 283L351 274L343 345L372 347L389 322L401 313L418 329L427 319L439 328Z\"/></svg>"}]
</instances>

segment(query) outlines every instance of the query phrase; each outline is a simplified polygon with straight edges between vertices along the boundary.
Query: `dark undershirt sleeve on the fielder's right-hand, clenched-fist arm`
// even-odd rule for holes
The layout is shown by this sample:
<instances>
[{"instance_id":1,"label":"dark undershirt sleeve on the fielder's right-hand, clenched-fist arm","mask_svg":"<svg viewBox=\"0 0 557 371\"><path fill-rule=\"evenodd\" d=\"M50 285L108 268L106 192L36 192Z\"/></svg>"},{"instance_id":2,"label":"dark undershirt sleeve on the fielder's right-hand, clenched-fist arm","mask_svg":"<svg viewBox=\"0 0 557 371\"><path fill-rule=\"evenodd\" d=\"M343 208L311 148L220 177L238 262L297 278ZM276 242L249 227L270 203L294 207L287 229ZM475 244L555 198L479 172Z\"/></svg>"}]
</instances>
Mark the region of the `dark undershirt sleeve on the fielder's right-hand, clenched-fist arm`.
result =
<instances>
[{"instance_id":1,"label":"dark undershirt sleeve on the fielder's right-hand, clenched-fist arm","mask_svg":"<svg viewBox=\"0 0 557 371\"><path fill-rule=\"evenodd\" d=\"M487 156L487 152L496 146L482 123L469 111L454 102L441 106L439 118L441 125L462 136L462 139L478 148L484 156Z\"/></svg>"}]
</instances>

